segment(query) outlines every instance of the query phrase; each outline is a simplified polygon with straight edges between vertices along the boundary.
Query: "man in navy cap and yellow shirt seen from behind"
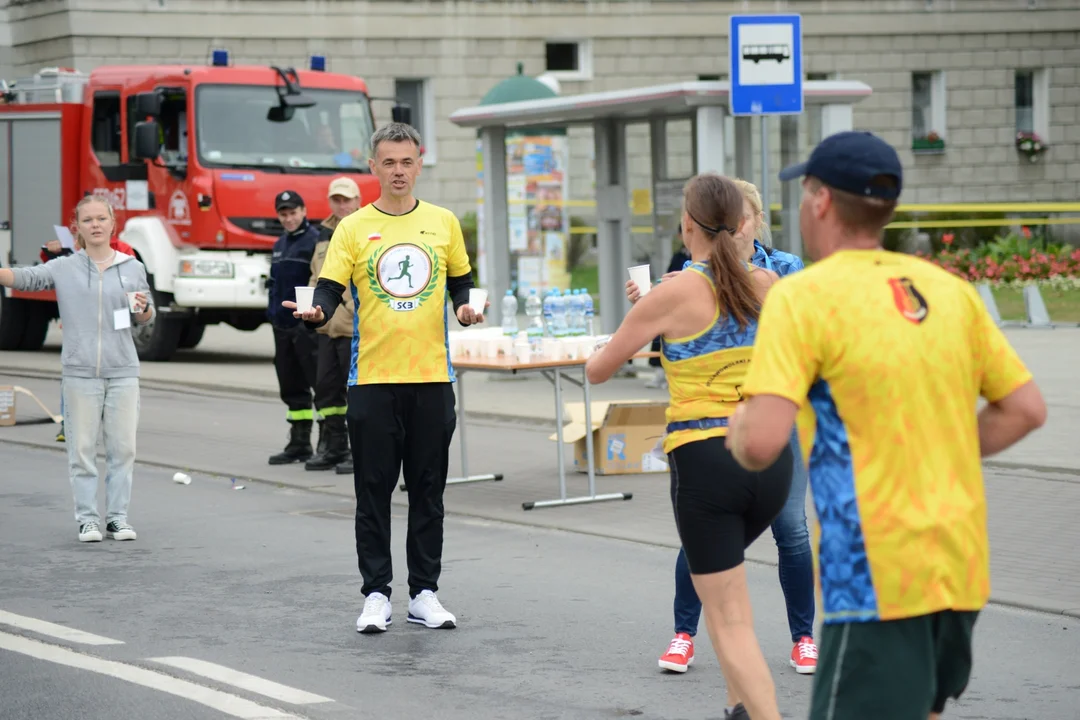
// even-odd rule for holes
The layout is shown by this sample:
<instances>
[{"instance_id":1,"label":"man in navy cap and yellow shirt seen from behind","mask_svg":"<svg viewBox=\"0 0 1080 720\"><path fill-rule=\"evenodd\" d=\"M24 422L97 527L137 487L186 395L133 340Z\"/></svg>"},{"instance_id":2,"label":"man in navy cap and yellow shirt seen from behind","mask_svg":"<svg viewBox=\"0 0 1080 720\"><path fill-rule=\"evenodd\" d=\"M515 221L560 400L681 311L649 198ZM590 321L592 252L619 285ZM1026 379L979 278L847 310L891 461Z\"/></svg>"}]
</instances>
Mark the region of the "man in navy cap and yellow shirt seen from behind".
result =
<instances>
[{"instance_id":1,"label":"man in navy cap and yellow shirt seen from behind","mask_svg":"<svg viewBox=\"0 0 1080 720\"><path fill-rule=\"evenodd\" d=\"M1039 427L1045 404L969 283L881 248L892 147L838 133L780 175L801 176L818 262L766 298L728 447L767 467L798 419L825 610L811 719L936 718L968 684L989 598L981 458Z\"/></svg>"}]
</instances>

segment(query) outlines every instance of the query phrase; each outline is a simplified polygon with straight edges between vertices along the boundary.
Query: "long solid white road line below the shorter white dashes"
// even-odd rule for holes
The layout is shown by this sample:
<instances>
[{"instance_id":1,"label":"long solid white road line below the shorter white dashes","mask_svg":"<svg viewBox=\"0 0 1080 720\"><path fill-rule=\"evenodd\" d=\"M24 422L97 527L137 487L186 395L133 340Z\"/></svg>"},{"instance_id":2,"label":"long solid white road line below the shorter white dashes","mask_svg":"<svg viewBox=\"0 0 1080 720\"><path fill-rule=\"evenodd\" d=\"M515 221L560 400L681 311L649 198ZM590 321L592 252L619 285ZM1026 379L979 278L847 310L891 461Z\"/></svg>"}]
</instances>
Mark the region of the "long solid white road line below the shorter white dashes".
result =
<instances>
[{"instance_id":1,"label":"long solid white road line below the shorter white dashes","mask_svg":"<svg viewBox=\"0 0 1080 720\"><path fill-rule=\"evenodd\" d=\"M150 688L151 690L158 690L193 701L233 718L242 718L243 720L303 720L299 716L288 715L281 710L244 699L243 697L230 695L220 690L204 688L194 682L180 680L163 673L94 655L84 655L67 648L48 644L17 635L0 631L0 650L10 650L49 663L107 675L119 680L143 685L144 688Z\"/></svg>"}]
</instances>

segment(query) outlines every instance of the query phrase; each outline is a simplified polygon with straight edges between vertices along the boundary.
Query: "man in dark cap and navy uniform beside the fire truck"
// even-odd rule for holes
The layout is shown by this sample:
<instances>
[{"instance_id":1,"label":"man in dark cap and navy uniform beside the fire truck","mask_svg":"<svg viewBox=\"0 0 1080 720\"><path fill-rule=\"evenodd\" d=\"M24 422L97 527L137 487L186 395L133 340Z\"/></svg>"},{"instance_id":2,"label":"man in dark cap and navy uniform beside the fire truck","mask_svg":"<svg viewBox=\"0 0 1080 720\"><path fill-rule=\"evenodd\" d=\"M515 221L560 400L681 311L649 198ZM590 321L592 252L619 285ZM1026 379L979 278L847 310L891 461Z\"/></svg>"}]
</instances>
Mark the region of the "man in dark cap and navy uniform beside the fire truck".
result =
<instances>
[{"instance_id":1,"label":"man in dark cap and navy uniform beside the fire truck","mask_svg":"<svg viewBox=\"0 0 1080 720\"><path fill-rule=\"evenodd\" d=\"M311 257L319 242L319 229L308 221L303 199L295 190L285 190L274 199L278 220L285 233L273 245L270 260L270 307L273 326L273 365L278 372L278 390L288 411L288 443L278 454L270 456L271 465L305 462L311 458L312 390L315 386L318 343L315 334L293 313L283 301L296 302L296 287L311 279ZM319 408L320 403L315 403Z\"/></svg>"}]
</instances>

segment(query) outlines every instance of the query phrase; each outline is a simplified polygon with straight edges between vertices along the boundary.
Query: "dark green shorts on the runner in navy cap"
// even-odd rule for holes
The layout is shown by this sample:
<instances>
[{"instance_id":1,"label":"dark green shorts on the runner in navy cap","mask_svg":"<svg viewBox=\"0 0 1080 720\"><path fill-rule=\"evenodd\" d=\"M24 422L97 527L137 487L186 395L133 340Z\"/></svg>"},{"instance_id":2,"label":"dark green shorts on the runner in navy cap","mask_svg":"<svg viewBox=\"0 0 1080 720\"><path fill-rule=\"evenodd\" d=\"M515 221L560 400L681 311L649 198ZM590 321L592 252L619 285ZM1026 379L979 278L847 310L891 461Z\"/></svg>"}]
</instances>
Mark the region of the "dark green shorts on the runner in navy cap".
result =
<instances>
[{"instance_id":1,"label":"dark green shorts on the runner in navy cap","mask_svg":"<svg viewBox=\"0 0 1080 720\"><path fill-rule=\"evenodd\" d=\"M971 677L978 612L825 625L810 720L926 720Z\"/></svg>"}]
</instances>

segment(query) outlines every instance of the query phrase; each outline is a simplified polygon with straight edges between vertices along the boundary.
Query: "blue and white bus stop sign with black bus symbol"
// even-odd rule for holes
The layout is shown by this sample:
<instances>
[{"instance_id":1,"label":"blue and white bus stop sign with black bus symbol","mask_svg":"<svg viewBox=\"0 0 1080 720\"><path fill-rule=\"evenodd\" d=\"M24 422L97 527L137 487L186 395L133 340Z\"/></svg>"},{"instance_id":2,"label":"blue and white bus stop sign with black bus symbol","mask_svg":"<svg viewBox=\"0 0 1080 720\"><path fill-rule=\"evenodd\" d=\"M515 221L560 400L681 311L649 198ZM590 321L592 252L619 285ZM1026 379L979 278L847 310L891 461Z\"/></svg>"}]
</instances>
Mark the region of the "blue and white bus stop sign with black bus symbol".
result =
<instances>
[{"instance_id":1,"label":"blue and white bus stop sign with black bus symbol","mask_svg":"<svg viewBox=\"0 0 1080 720\"><path fill-rule=\"evenodd\" d=\"M802 112L802 18L732 15L728 29L733 116Z\"/></svg>"}]
</instances>

